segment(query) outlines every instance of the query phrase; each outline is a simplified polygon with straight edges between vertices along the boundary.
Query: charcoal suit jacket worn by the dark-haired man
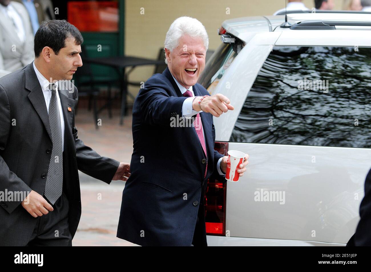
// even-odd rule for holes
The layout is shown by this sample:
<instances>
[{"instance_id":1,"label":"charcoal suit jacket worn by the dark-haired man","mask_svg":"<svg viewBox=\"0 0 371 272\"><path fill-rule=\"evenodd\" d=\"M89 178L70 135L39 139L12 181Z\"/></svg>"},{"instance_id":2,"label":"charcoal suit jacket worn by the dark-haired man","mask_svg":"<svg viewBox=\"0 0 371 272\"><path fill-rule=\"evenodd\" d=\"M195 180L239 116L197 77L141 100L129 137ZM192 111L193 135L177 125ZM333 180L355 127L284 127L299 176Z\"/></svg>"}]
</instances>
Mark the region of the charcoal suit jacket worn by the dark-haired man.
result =
<instances>
[{"instance_id":1,"label":"charcoal suit jacket worn by the dark-haired man","mask_svg":"<svg viewBox=\"0 0 371 272\"><path fill-rule=\"evenodd\" d=\"M59 89L59 97L65 121L63 191L70 203L69 229L73 237L81 216L78 169L110 183L119 162L101 157L78 139L77 132L72 134L77 88L72 85ZM30 63L0 78L0 191L33 190L43 195L52 148L45 98ZM24 246L33 232L37 218L21 202L0 203L0 246Z\"/></svg>"}]
</instances>

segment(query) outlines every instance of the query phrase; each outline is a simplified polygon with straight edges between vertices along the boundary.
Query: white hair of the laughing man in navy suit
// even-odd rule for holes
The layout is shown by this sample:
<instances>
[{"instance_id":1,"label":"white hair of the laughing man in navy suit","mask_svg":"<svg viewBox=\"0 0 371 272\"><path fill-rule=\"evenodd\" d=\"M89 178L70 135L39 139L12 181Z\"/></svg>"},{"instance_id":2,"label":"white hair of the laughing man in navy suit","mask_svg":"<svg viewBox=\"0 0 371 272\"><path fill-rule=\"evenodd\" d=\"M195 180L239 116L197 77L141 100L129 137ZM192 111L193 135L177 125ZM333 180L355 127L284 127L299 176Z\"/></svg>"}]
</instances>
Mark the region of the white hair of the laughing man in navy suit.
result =
<instances>
[{"instance_id":1,"label":"white hair of the laughing man in navy suit","mask_svg":"<svg viewBox=\"0 0 371 272\"><path fill-rule=\"evenodd\" d=\"M184 35L191 37L201 37L204 40L204 46L209 47L209 36L203 24L195 18L182 16L171 24L169 30L166 33L164 50L167 48L170 52L173 52L179 45L179 40ZM167 59L165 58L167 64Z\"/></svg>"}]
</instances>

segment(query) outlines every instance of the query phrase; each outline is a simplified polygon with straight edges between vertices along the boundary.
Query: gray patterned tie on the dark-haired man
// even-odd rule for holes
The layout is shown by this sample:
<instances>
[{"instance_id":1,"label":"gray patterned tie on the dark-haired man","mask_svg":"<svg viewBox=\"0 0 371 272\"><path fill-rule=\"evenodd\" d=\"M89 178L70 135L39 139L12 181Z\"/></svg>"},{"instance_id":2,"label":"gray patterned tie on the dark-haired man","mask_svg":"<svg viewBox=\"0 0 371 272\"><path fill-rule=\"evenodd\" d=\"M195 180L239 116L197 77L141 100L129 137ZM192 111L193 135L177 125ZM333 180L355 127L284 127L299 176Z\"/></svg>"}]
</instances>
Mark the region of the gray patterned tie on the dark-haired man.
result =
<instances>
[{"instance_id":1,"label":"gray patterned tie on the dark-haired man","mask_svg":"<svg viewBox=\"0 0 371 272\"><path fill-rule=\"evenodd\" d=\"M49 124L50 133L52 135L53 149L50 157L49 170L47 173L44 195L50 203L55 201L62 195L63 185L63 155L62 155L62 128L60 125L60 115L58 100L56 94L56 85L49 84L49 89L52 91L52 97L49 104Z\"/></svg>"}]
</instances>

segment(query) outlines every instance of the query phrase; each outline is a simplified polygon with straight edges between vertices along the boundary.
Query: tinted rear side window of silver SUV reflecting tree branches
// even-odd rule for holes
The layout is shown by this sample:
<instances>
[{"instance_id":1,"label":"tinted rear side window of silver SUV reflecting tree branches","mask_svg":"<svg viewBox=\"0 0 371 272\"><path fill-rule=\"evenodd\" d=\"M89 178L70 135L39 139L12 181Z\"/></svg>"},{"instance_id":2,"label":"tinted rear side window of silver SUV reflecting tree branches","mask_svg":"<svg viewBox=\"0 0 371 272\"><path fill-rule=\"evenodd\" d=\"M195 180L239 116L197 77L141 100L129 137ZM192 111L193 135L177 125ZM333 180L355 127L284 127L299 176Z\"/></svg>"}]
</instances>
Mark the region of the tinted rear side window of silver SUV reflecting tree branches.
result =
<instances>
[{"instance_id":1,"label":"tinted rear side window of silver SUV reflecting tree branches","mask_svg":"<svg viewBox=\"0 0 371 272\"><path fill-rule=\"evenodd\" d=\"M371 49L274 47L232 142L371 147Z\"/></svg>"}]
</instances>

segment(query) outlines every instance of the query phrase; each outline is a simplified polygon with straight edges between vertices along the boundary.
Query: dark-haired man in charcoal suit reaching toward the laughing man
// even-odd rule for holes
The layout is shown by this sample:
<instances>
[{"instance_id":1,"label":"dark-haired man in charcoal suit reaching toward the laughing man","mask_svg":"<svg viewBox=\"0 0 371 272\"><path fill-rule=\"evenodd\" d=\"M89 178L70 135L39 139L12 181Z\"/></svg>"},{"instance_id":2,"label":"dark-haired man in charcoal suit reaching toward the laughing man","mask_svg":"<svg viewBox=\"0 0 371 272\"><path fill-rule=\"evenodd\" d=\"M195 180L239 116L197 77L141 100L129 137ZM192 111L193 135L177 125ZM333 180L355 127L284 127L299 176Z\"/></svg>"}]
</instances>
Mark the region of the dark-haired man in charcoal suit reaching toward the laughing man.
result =
<instances>
[{"instance_id":1,"label":"dark-haired man in charcoal suit reaching toward the laughing man","mask_svg":"<svg viewBox=\"0 0 371 272\"><path fill-rule=\"evenodd\" d=\"M35 61L0 79L0 193L12 192L0 199L0 246L72 245L81 216L78 169L106 183L129 176L129 164L78 139L78 91L69 80L82 66L82 42L68 22L43 22Z\"/></svg>"}]
</instances>

